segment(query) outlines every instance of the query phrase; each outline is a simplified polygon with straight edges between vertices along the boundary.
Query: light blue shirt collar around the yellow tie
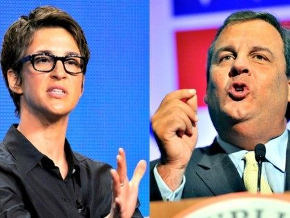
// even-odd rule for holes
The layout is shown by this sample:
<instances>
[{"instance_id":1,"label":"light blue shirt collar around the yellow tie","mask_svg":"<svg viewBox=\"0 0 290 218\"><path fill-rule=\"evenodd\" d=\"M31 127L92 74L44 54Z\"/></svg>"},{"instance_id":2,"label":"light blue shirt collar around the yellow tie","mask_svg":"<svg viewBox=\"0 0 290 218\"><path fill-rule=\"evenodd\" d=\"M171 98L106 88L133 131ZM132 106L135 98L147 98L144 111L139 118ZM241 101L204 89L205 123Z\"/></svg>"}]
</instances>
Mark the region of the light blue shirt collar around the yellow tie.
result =
<instances>
[{"instance_id":1,"label":"light blue shirt collar around the yellow tie","mask_svg":"<svg viewBox=\"0 0 290 218\"><path fill-rule=\"evenodd\" d=\"M224 151L226 152L226 154L229 154L229 157L231 158L231 161L233 161L235 167L238 167L240 161L242 161L244 154L246 154L248 151L241 149L240 147L231 145L230 143L226 143L220 138L220 136L217 137L217 140L222 149L224 149ZM284 130L282 135L269 140L269 142L265 144L267 161L272 163L282 172L285 172L287 144L287 128Z\"/></svg>"}]
</instances>

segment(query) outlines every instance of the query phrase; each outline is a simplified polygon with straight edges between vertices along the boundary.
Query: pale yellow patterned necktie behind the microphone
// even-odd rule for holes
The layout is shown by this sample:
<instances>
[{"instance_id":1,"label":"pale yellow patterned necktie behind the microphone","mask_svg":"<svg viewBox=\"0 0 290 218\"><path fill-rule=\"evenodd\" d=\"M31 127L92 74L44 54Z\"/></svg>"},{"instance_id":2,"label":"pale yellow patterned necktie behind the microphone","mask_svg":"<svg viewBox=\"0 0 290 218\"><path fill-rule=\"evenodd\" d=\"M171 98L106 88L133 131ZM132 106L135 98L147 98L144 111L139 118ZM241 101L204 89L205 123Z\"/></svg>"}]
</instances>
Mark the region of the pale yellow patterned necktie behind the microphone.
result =
<instances>
[{"instance_id":1,"label":"pale yellow patterned necktie behind the microphone","mask_svg":"<svg viewBox=\"0 0 290 218\"><path fill-rule=\"evenodd\" d=\"M258 163L255 161L255 152L248 152L244 154L244 160L246 161L243 174L244 186L246 186L248 192L257 193ZM263 176L261 176L261 193L272 193L269 184Z\"/></svg>"}]
</instances>

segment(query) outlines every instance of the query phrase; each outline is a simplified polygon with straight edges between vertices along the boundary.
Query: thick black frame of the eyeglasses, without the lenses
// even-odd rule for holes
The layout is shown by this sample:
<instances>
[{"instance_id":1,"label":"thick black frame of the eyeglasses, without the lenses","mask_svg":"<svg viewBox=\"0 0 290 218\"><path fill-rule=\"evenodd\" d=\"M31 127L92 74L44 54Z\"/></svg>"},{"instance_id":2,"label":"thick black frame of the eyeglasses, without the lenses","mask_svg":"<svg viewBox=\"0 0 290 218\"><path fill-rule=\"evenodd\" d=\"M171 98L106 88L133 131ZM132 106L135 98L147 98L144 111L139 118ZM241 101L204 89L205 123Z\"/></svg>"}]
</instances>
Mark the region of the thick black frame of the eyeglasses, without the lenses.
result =
<instances>
[{"instance_id":1,"label":"thick black frame of the eyeglasses, without the lenses","mask_svg":"<svg viewBox=\"0 0 290 218\"><path fill-rule=\"evenodd\" d=\"M54 62L53 62L53 66L52 66L52 69L50 69L50 71L40 71L40 70L37 70L35 68L35 63L34 63L34 60L35 60L35 57L38 56L38 55L46 55L46 56L49 56L49 57L52 57ZM72 73L70 71L68 71L66 69L66 66L64 65L64 61L68 58L68 57L79 57L81 58L81 60L84 61L84 69L81 71L81 72L77 72L77 73ZM71 75L75 75L75 74L79 74L79 73L86 73L86 65L88 64L88 58L86 57L83 57L83 56L80 56L80 55L66 55L66 56L57 56L57 55L52 55L50 53L36 53L36 54L32 54L32 55L28 55L26 57L23 57L20 62L21 64L24 64L25 62L28 62L30 61L33 69L35 69L35 71L38 71L38 72L43 72L43 73L49 73L51 71L53 71L55 69L55 65L57 64L57 61L60 60L62 65L64 66L64 71L66 71L66 73L68 74L71 74Z\"/></svg>"}]
</instances>

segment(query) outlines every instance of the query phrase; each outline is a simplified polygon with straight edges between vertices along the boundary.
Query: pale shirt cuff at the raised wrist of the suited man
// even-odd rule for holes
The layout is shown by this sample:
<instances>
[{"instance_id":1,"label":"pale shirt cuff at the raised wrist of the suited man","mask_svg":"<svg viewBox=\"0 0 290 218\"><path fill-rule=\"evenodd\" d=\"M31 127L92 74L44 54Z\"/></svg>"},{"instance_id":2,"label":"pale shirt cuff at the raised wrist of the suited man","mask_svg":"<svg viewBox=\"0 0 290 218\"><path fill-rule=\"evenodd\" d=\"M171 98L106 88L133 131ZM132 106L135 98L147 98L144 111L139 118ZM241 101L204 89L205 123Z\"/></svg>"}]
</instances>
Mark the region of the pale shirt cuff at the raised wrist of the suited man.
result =
<instances>
[{"instance_id":1,"label":"pale shirt cuff at the raised wrist of the suited man","mask_svg":"<svg viewBox=\"0 0 290 218\"><path fill-rule=\"evenodd\" d=\"M182 183L180 184L180 187L178 187L173 192L170 188L168 188L168 186L166 185L166 183L163 181L160 174L158 173L157 165L155 165L153 172L154 172L155 180L156 180L156 183L157 183L158 188L160 190L161 197L162 197L163 201L178 201L178 200L180 200L182 197L182 191L183 191L184 184L185 184L185 176L183 175L183 177L182 177Z\"/></svg>"}]
</instances>

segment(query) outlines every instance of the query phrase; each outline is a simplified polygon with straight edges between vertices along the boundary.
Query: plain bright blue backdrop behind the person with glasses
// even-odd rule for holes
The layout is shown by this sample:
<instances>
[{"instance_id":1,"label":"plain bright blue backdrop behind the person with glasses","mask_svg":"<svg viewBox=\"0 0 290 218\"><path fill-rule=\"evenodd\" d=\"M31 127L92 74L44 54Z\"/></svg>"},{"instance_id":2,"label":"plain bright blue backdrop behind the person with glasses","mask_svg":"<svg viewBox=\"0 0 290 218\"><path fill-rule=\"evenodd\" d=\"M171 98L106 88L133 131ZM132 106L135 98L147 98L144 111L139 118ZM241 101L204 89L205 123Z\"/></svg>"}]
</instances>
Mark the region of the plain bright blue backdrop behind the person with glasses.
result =
<instances>
[{"instance_id":1,"label":"plain bright blue backdrop behind the person with glasses","mask_svg":"<svg viewBox=\"0 0 290 218\"><path fill-rule=\"evenodd\" d=\"M20 15L45 5L57 6L77 20L91 51L84 95L70 115L68 140L75 151L113 167L118 147L124 147L131 178L139 159L148 161L148 1L0 0L1 42ZM3 80L0 93L1 140L18 119ZM147 170L139 187L145 216L148 187Z\"/></svg>"}]
</instances>

